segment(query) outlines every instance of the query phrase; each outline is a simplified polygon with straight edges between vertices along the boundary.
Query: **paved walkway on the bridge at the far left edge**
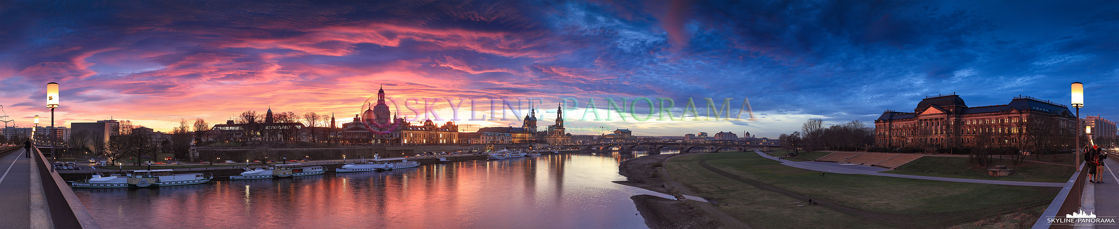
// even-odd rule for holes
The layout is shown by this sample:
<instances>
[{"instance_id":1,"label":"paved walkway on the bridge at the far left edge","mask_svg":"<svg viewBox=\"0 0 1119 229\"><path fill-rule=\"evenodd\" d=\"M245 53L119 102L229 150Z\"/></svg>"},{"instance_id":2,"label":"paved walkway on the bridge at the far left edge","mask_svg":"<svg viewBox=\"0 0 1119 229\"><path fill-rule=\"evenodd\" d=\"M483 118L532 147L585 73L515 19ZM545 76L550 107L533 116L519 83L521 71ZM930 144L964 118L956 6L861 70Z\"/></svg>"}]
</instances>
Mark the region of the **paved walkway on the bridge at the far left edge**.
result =
<instances>
[{"instance_id":1,"label":"paved walkway on the bridge at the far left edge","mask_svg":"<svg viewBox=\"0 0 1119 229\"><path fill-rule=\"evenodd\" d=\"M19 149L0 156L0 228L30 228L31 159Z\"/></svg>"}]
</instances>

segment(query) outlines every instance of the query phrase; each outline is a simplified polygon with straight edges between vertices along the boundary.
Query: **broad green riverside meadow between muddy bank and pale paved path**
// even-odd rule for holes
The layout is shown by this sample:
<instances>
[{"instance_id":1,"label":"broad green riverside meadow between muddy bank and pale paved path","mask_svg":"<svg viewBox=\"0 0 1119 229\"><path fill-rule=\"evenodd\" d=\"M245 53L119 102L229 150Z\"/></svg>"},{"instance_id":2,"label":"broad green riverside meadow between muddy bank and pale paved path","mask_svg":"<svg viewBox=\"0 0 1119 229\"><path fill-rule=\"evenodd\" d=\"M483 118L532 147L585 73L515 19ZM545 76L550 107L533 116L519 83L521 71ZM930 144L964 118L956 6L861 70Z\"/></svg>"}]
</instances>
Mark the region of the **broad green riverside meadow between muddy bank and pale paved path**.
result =
<instances>
[{"instance_id":1,"label":"broad green riverside meadow between muddy bank and pale paved path","mask_svg":"<svg viewBox=\"0 0 1119 229\"><path fill-rule=\"evenodd\" d=\"M791 203L797 200L775 192L761 191L703 169L698 164L700 156L708 159L707 163L720 170L817 200L878 213L935 216L922 218L924 221L920 221L931 226L947 227L975 222L1021 210L1022 206L1047 204L1060 191L1059 188L959 183L862 174L829 173L821 176L819 172L780 165L754 153L680 155L673 158L666 165L674 180L685 183L700 197L734 202L731 206L720 206L721 210L743 222L765 228L886 226L874 225L824 207L797 208L794 206L798 203Z\"/></svg>"}]
</instances>

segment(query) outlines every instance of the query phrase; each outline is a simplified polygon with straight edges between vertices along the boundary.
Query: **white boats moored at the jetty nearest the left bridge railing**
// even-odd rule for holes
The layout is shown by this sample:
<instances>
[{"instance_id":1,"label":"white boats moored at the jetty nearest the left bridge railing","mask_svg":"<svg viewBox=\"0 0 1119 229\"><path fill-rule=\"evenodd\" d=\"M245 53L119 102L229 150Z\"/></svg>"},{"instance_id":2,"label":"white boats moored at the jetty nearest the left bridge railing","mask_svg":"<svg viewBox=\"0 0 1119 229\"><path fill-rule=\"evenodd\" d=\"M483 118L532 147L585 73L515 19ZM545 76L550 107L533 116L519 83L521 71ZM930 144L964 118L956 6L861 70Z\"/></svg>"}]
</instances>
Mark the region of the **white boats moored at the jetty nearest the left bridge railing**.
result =
<instances>
[{"instance_id":1,"label":"white boats moored at the jetty nearest the left bridge railing","mask_svg":"<svg viewBox=\"0 0 1119 229\"><path fill-rule=\"evenodd\" d=\"M148 188L206 183L210 178L201 173L173 174L173 170L137 170L125 175L93 175L85 182L70 181L74 188Z\"/></svg>"}]
</instances>

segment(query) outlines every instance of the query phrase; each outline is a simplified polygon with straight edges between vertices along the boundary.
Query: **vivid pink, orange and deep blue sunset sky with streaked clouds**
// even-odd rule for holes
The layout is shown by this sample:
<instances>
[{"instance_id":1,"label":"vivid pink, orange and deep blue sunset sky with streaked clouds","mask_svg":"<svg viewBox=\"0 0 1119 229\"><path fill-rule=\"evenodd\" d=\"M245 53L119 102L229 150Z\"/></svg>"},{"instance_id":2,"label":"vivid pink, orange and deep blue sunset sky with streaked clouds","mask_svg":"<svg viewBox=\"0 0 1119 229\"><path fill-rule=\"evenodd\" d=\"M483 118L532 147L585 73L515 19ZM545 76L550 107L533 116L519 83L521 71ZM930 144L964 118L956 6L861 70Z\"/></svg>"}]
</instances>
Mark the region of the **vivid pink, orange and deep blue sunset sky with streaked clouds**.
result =
<instances>
[{"instance_id":1,"label":"vivid pink, orange and deep blue sunset sky with streaked clouds","mask_svg":"<svg viewBox=\"0 0 1119 229\"><path fill-rule=\"evenodd\" d=\"M567 126L777 137L807 118L873 123L938 94L1068 104L1082 82L1081 116L1119 121L1116 12L1116 1L2 1L0 105L16 125L48 123L57 82L59 125L112 117L167 132L269 107L349 121L384 85L396 99L479 106L580 98ZM600 109L606 97L669 97L675 115L688 97L700 114L705 97L732 97L732 114L749 97L758 120L573 121L591 97ZM546 126L555 114L538 116Z\"/></svg>"}]
</instances>

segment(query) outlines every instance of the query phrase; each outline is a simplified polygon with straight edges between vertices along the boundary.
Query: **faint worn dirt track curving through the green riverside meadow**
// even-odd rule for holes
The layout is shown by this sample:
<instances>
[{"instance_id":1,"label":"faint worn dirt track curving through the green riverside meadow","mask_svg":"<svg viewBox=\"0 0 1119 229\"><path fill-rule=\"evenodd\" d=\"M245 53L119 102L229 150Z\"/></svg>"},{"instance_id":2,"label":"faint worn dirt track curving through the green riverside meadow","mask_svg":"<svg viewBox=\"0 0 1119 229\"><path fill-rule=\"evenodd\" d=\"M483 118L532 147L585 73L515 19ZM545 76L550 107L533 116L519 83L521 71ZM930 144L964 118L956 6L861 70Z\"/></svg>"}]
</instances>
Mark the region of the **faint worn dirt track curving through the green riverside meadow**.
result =
<instances>
[{"instance_id":1,"label":"faint worn dirt track curving through the green riverside meadow","mask_svg":"<svg viewBox=\"0 0 1119 229\"><path fill-rule=\"evenodd\" d=\"M742 176L739 176L739 175L735 175L735 174L732 174L732 173L728 173L726 171L723 171L723 170L720 170L720 169L716 169L714 166L708 165L707 164L707 159L703 159L702 156L699 159L699 165L703 166L704 169L707 169L708 171L712 171L712 172L716 173L716 174L720 174L720 175L723 175L725 178L728 178L728 179L732 179L732 180L736 180L736 181L740 181L740 182L743 182L743 183L756 187L758 189L777 192L777 193L783 194L786 197L790 197L790 198L798 199L798 200L808 201L808 199L812 199L812 201L817 202L820 207L829 208L829 209L833 209L833 210L836 210L836 211L839 211L839 212L843 212L843 213L846 213L846 214L859 218L862 220L866 220L866 221L871 221L871 222L875 222L875 223L881 223L881 225L885 225L885 226L891 226L891 227L899 227L899 228L947 228L947 227L959 225L961 222L974 221L975 218L976 218L976 216L994 216L994 214L1002 214L1002 213L1013 212L1013 210L993 210L993 209L978 209L978 210L961 211L961 212L950 212L950 213L930 213L930 214L927 214L927 216L891 214L891 213L871 212L871 211L865 211L865 210L862 210L862 209L856 209L856 208L850 208L850 207L846 207L846 206L840 206L840 204L831 203L830 201L827 201L827 200L810 198L808 195L803 195L803 194L796 193L796 192L792 192L792 191L783 190L783 189L770 185L768 183L762 183L762 182L759 182L759 181L754 181L754 180L750 180L750 179L746 179L746 178L742 178ZM1018 206L1018 207L1025 207L1025 208L1033 208L1033 207L1037 207L1037 206L1049 204L1049 201L1038 201L1038 200L1029 201L1029 200L1026 200L1026 201L1018 201L1018 202L1014 202L1014 203L1009 203L1009 204L1012 204L1012 206Z\"/></svg>"}]
</instances>

